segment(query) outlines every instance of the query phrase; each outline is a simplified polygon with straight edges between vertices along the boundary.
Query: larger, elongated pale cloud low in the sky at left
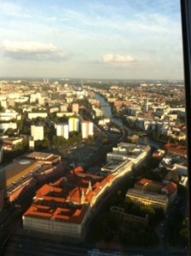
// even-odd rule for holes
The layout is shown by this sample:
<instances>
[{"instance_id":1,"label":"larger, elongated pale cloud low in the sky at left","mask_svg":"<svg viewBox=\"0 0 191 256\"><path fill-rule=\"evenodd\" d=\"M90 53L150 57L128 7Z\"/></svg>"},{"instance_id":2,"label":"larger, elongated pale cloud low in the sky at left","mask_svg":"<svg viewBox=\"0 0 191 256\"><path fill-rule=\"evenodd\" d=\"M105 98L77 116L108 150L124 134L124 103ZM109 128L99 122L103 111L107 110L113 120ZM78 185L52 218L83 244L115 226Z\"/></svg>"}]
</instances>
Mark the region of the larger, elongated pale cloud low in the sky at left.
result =
<instances>
[{"instance_id":1,"label":"larger, elongated pale cloud low in the sky at left","mask_svg":"<svg viewBox=\"0 0 191 256\"><path fill-rule=\"evenodd\" d=\"M3 41L3 53L18 60L61 61L67 59L67 55L55 45L39 42Z\"/></svg>"}]
</instances>

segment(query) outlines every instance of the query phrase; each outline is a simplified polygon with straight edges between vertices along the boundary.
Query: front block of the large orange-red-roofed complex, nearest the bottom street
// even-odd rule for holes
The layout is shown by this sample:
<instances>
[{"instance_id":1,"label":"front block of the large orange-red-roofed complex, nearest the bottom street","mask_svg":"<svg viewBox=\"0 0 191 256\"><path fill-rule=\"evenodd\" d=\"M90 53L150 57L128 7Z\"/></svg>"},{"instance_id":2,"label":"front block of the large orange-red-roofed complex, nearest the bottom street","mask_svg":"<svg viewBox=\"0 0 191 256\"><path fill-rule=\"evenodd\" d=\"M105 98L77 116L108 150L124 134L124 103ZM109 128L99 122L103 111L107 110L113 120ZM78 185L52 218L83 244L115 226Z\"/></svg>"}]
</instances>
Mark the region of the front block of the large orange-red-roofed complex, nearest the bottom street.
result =
<instances>
[{"instance_id":1,"label":"front block of the large orange-red-roofed complex, nearest the bottom street","mask_svg":"<svg viewBox=\"0 0 191 256\"><path fill-rule=\"evenodd\" d=\"M70 207L66 204L64 208L54 208L37 204L23 215L23 227L24 230L82 239L89 211L90 207L86 205Z\"/></svg>"}]
</instances>

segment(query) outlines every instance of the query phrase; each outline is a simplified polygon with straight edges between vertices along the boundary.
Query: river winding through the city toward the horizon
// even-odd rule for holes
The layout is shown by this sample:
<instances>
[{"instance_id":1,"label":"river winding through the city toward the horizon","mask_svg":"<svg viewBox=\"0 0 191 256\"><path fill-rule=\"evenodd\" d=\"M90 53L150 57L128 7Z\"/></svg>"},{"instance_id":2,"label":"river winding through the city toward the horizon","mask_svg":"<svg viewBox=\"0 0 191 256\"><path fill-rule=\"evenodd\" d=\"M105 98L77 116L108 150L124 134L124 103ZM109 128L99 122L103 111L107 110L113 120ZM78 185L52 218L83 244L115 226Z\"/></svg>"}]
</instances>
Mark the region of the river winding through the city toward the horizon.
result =
<instances>
[{"instance_id":1,"label":"river winding through the city toward the horizon","mask_svg":"<svg viewBox=\"0 0 191 256\"><path fill-rule=\"evenodd\" d=\"M111 107L109 106L108 102L106 101L106 99L103 96L96 94L95 98L97 101L99 101L101 103L101 105L102 105L101 110L104 113L105 117L111 119L113 121L113 123L115 123L116 125L119 125L123 128L125 127L125 129L127 129L129 131L129 133L134 133L134 131L130 130L129 127L124 126L124 124L122 123L122 121L120 119L116 119L116 118L112 117ZM135 133L136 133L136 131L135 131ZM140 137L139 143L143 144L143 145L150 145L155 148L161 148L162 146L164 146L164 143L154 140L153 138L148 137L148 136Z\"/></svg>"}]
</instances>

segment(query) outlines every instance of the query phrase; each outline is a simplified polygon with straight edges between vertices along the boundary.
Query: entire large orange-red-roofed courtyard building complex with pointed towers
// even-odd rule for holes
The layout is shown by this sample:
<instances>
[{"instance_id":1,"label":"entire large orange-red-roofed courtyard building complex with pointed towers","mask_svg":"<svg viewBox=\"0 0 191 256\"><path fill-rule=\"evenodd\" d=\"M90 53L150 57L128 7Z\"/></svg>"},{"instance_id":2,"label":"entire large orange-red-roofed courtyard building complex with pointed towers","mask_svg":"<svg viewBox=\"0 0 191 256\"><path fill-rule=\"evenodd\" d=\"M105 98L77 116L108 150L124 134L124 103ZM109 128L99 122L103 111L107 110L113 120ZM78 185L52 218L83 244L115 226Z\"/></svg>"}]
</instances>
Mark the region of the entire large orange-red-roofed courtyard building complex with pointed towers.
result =
<instances>
[{"instance_id":1,"label":"entire large orange-red-roofed courtyard building complex with pointed towers","mask_svg":"<svg viewBox=\"0 0 191 256\"><path fill-rule=\"evenodd\" d=\"M32 207L23 215L23 227L44 233L83 239L92 209L114 181L77 167L55 183L38 190Z\"/></svg>"}]
</instances>

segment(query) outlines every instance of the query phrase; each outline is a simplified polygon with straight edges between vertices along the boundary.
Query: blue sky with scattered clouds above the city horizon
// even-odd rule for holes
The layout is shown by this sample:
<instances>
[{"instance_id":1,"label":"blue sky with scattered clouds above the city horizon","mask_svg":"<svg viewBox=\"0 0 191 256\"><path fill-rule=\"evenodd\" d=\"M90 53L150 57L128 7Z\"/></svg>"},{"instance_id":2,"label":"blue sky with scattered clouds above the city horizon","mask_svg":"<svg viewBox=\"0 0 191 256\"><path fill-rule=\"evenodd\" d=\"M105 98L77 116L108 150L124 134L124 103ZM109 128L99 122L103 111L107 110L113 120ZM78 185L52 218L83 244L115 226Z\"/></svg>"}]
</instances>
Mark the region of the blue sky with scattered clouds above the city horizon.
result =
<instances>
[{"instance_id":1,"label":"blue sky with scattered clouds above the city horizon","mask_svg":"<svg viewBox=\"0 0 191 256\"><path fill-rule=\"evenodd\" d=\"M183 79L180 0L0 0L0 77Z\"/></svg>"}]
</instances>

